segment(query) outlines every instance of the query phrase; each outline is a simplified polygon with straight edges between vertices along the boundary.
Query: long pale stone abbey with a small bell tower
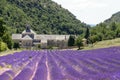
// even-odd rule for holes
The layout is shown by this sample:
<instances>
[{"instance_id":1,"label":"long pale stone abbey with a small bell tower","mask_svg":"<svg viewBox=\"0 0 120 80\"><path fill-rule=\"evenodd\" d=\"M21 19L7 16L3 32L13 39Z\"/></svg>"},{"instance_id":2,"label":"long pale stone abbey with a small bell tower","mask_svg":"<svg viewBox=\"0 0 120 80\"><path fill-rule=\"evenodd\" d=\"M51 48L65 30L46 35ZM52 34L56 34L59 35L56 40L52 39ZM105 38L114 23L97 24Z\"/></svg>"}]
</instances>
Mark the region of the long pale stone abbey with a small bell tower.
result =
<instances>
[{"instance_id":1,"label":"long pale stone abbey with a small bell tower","mask_svg":"<svg viewBox=\"0 0 120 80\"><path fill-rule=\"evenodd\" d=\"M21 34L12 34L14 42L20 44L22 48L36 47L38 45L41 48L58 47L66 48L70 35L46 35L36 34L29 26L26 27Z\"/></svg>"}]
</instances>

